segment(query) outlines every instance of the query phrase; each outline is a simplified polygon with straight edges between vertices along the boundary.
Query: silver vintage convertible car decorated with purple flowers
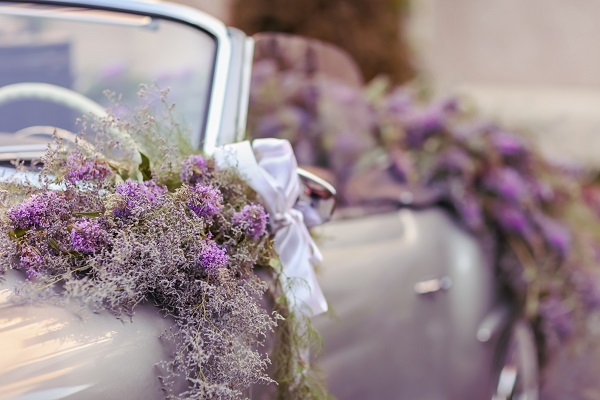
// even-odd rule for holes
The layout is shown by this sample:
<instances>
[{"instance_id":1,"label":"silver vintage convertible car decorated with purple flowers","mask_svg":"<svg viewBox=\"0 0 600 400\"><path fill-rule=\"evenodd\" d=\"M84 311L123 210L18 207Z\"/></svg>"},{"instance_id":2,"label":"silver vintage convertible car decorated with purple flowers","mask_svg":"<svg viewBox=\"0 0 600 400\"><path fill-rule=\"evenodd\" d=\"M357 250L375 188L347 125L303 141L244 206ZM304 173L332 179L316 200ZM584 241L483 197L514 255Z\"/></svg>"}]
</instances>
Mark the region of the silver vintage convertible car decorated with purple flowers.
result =
<instances>
[{"instance_id":1,"label":"silver vintage convertible car decorated with purple flowers","mask_svg":"<svg viewBox=\"0 0 600 400\"><path fill-rule=\"evenodd\" d=\"M170 89L198 149L211 153L239 141L253 48L242 32L183 6L0 0L4 174L14 172L9 160L43 153L55 130L72 137L76 116L102 115L105 90L126 104L147 82ZM327 57L331 52L319 49L338 65L337 50ZM305 176L308 193L331 194ZM400 211L325 230L336 241L325 248L321 281L337 317L321 316L316 326L333 394L537 398L530 332L502 296L493 268L480 268L492 261L435 202L415 199L394 199ZM321 211L317 222L332 211L331 202L313 205ZM23 279L9 271L0 281L0 399L163 397L155 365L170 353L159 339L170 321L153 306L141 306L131 323L81 309L15 306L8 297Z\"/></svg>"}]
</instances>

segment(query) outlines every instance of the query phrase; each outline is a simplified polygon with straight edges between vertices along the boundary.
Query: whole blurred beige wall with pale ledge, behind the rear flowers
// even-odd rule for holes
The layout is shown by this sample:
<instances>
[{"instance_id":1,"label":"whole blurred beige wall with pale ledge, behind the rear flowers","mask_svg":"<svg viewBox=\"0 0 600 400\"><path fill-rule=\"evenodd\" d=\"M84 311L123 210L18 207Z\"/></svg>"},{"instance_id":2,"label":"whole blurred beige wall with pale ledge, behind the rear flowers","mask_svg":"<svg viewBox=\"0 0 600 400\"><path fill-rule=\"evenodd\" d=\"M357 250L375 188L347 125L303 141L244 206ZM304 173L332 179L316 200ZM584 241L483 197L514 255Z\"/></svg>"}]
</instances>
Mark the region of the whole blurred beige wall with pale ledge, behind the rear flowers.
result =
<instances>
[{"instance_id":1,"label":"whole blurred beige wall with pale ledge, behind the rear flowers","mask_svg":"<svg viewBox=\"0 0 600 400\"><path fill-rule=\"evenodd\" d=\"M467 96L553 159L600 167L600 1L413 2L434 89Z\"/></svg>"}]
</instances>

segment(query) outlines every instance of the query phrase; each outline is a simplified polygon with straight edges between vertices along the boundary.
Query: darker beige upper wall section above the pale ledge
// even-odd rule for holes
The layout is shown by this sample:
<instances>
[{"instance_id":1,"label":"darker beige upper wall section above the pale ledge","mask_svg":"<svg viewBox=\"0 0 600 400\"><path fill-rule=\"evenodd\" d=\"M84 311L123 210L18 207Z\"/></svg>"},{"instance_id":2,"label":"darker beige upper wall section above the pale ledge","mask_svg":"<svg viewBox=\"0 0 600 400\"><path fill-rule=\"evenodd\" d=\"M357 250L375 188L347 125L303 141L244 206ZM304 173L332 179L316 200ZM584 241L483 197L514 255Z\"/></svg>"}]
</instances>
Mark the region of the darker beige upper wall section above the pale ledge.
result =
<instances>
[{"instance_id":1,"label":"darker beige upper wall section above the pale ledge","mask_svg":"<svg viewBox=\"0 0 600 400\"><path fill-rule=\"evenodd\" d=\"M428 35L417 51L444 82L600 87L600 1L414 3Z\"/></svg>"}]
</instances>

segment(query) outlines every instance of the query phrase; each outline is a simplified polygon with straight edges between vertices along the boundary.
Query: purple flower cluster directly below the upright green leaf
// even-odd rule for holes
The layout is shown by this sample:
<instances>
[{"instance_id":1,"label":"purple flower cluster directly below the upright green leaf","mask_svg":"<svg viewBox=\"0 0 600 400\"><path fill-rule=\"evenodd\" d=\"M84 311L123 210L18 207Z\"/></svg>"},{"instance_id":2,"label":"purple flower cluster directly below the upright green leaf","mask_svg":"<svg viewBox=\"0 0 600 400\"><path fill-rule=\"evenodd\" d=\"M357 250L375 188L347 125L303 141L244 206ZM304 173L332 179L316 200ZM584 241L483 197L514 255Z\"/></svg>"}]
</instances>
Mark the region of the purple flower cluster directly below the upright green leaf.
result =
<instances>
[{"instance_id":1,"label":"purple flower cluster directly below the upright green leaf","mask_svg":"<svg viewBox=\"0 0 600 400\"><path fill-rule=\"evenodd\" d=\"M114 213L117 217L126 218L158 204L167 189L158 186L152 180L138 182L127 179L116 186L115 192L125 198L125 203L123 207L116 209Z\"/></svg>"}]
</instances>

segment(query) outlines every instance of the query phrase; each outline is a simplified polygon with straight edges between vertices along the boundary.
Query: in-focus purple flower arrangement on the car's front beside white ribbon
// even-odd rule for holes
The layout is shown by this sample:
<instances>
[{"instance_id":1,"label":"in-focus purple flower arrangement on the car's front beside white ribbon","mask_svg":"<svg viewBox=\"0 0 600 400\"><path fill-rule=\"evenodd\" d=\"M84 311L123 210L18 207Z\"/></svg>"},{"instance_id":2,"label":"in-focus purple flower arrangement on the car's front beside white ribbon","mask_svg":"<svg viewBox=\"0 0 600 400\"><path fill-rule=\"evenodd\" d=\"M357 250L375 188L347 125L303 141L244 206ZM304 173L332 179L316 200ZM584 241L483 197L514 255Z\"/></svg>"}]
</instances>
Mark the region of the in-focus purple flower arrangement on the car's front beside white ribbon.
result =
<instances>
[{"instance_id":1,"label":"in-focus purple flower arrangement on the car's front beside white ribbon","mask_svg":"<svg viewBox=\"0 0 600 400\"><path fill-rule=\"evenodd\" d=\"M282 295L260 199L235 168L193 154L165 109L84 121L93 134L56 139L38 180L2 184L0 274L29 278L14 301L81 302L119 318L153 302L174 321L169 398L246 398L256 384L327 398L303 358L313 333Z\"/></svg>"}]
</instances>

